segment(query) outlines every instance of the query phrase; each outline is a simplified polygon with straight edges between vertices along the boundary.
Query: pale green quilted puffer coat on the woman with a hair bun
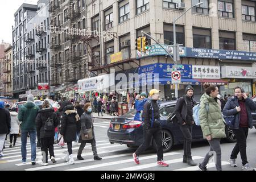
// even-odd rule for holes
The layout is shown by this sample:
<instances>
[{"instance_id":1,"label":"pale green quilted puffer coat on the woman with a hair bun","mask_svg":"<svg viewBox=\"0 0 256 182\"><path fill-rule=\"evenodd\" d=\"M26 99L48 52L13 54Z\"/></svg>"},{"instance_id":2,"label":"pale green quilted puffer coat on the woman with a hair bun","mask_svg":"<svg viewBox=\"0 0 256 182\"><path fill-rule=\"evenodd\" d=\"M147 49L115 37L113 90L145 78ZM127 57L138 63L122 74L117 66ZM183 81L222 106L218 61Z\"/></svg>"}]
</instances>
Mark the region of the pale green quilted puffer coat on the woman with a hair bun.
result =
<instances>
[{"instance_id":1,"label":"pale green quilted puffer coat on the woman with a hair bun","mask_svg":"<svg viewBox=\"0 0 256 182\"><path fill-rule=\"evenodd\" d=\"M203 94L199 109L200 126L203 137L211 135L212 138L225 138L224 119L218 102L208 94Z\"/></svg>"}]
</instances>

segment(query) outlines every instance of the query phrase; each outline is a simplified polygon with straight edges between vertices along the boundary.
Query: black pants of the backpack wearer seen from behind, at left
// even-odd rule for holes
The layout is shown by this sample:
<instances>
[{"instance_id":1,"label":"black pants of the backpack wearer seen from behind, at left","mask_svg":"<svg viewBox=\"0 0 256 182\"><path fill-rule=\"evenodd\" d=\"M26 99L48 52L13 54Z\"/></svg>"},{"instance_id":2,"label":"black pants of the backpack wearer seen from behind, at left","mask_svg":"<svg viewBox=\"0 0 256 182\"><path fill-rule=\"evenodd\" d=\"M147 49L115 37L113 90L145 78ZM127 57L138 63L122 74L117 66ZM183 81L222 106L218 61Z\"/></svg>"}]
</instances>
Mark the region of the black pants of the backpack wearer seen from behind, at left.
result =
<instances>
[{"instance_id":1,"label":"black pants of the backpack wearer seen from behind, at left","mask_svg":"<svg viewBox=\"0 0 256 182\"><path fill-rule=\"evenodd\" d=\"M44 151L46 154L46 159L44 160L44 163L48 163L48 150L49 150L50 158L52 157L54 158L54 151L53 151L54 137L40 138L40 140L41 140L41 151Z\"/></svg>"}]
</instances>

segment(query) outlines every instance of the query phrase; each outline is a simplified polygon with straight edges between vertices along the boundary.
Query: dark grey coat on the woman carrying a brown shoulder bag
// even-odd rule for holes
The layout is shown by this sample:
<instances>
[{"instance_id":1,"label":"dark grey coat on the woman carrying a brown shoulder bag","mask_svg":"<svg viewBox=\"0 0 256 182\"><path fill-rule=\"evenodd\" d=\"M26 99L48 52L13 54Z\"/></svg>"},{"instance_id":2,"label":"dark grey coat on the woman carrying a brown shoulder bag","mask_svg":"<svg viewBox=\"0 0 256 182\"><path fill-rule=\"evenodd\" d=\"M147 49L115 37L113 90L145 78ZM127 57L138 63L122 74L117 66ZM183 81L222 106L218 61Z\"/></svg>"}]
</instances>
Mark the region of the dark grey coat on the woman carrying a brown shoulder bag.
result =
<instances>
[{"instance_id":1,"label":"dark grey coat on the woman carrying a brown shoulder bag","mask_svg":"<svg viewBox=\"0 0 256 182\"><path fill-rule=\"evenodd\" d=\"M86 129L90 129L90 128L92 128L92 130L94 130L92 114L88 113L88 112L84 112L81 116L81 130L82 130L81 134L84 133L84 135L86 135L87 134ZM92 140L82 140L81 134L79 137L79 143L81 143L81 142L92 143L93 139Z\"/></svg>"}]
</instances>

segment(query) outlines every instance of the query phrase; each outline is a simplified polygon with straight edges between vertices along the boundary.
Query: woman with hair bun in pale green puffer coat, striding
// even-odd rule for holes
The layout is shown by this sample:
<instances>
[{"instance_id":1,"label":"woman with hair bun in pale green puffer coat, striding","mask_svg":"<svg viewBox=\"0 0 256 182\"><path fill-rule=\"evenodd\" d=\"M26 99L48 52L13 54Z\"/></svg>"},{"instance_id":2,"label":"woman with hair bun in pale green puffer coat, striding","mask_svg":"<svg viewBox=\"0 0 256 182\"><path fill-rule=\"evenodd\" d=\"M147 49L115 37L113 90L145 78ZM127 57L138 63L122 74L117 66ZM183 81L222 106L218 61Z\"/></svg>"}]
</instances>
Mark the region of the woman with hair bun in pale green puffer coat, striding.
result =
<instances>
[{"instance_id":1,"label":"woman with hair bun in pale green puffer coat, striding","mask_svg":"<svg viewBox=\"0 0 256 182\"><path fill-rule=\"evenodd\" d=\"M220 139L225 138L226 134L221 107L217 102L218 87L205 83L204 88L205 94L200 100L199 119L203 137L210 144L210 151L205 155L203 162L199 163L199 168L201 171L207 171L209 159L216 154L213 156L216 159L216 169L222 171Z\"/></svg>"}]
</instances>

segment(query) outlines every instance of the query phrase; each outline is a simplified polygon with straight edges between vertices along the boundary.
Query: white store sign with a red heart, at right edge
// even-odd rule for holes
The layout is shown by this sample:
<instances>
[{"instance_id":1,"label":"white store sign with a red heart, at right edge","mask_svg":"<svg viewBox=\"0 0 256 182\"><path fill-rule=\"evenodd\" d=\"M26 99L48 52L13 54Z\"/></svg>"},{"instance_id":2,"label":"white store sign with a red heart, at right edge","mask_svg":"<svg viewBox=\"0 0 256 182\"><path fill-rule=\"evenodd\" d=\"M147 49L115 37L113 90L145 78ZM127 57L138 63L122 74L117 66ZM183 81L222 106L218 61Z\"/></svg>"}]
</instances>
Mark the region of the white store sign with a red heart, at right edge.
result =
<instances>
[{"instance_id":1,"label":"white store sign with a red heart, at right edge","mask_svg":"<svg viewBox=\"0 0 256 182\"><path fill-rule=\"evenodd\" d=\"M222 78L256 78L256 69L252 67L221 67Z\"/></svg>"}]
</instances>

